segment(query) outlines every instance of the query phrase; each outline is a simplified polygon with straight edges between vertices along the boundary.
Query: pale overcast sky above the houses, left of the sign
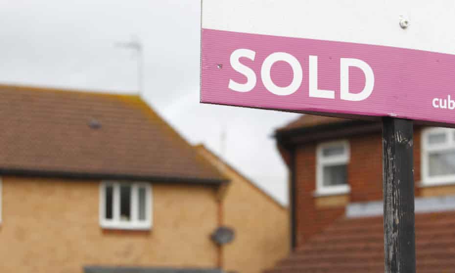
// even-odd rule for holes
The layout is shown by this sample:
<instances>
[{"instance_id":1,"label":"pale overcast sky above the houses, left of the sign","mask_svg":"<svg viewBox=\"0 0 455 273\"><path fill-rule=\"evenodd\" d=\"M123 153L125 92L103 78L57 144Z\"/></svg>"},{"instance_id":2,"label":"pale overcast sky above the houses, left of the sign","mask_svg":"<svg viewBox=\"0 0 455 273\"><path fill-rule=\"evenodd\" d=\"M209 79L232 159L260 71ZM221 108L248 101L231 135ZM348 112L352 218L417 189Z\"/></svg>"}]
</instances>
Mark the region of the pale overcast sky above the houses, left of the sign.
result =
<instances>
[{"instance_id":1,"label":"pale overcast sky above the houses, left of the sign","mask_svg":"<svg viewBox=\"0 0 455 273\"><path fill-rule=\"evenodd\" d=\"M199 103L200 0L0 0L0 83L136 93L190 143L204 143L287 203L287 170L271 135L296 114ZM226 149L220 139L227 132Z\"/></svg>"}]
</instances>

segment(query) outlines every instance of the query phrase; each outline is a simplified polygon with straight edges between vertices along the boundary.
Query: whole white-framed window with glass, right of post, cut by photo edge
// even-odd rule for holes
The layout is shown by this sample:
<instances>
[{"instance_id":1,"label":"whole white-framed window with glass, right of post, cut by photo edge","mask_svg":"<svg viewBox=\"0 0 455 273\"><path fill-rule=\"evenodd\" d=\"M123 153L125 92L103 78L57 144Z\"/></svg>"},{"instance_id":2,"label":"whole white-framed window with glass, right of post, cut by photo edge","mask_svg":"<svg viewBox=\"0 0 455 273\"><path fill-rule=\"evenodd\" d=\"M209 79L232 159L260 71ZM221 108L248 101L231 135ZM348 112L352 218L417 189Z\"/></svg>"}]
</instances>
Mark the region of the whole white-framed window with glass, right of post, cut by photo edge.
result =
<instances>
[{"instance_id":1,"label":"whole white-framed window with glass, right of post, cut by photo edge","mask_svg":"<svg viewBox=\"0 0 455 273\"><path fill-rule=\"evenodd\" d=\"M422 183L455 183L455 130L429 128L422 132Z\"/></svg>"}]
</instances>

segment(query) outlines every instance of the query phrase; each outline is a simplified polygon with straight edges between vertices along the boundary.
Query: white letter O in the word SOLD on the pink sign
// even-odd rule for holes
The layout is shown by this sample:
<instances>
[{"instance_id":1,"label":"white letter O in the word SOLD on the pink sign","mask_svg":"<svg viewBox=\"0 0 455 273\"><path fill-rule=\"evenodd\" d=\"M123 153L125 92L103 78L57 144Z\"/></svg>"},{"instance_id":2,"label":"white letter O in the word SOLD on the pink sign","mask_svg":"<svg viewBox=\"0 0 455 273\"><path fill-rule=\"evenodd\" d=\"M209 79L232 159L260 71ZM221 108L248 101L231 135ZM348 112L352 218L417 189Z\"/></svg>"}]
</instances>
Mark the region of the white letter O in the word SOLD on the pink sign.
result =
<instances>
[{"instance_id":1,"label":"white letter O in the word SOLD on the pink sign","mask_svg":"<svg viewBox=\"0 0 455 273\"><path fill-rule=\"evenodd\" d=\"M288 85L287 87L276 86L273 83L272 78L270 76L270 69L272 68L273 64L278 61L286 62L292 68L293 79L291 84ZM293 55L285 52L275 52L267 56L267 58L264 60L264 63L262 64L261 68L261 78L264 87L273 94L279 96L290 95L297 91L297 89L300 87L302 83L303 78L302 67L300 66L300 63L298 62L296 57L294 57Z\"/></svg>"}]
</instances>

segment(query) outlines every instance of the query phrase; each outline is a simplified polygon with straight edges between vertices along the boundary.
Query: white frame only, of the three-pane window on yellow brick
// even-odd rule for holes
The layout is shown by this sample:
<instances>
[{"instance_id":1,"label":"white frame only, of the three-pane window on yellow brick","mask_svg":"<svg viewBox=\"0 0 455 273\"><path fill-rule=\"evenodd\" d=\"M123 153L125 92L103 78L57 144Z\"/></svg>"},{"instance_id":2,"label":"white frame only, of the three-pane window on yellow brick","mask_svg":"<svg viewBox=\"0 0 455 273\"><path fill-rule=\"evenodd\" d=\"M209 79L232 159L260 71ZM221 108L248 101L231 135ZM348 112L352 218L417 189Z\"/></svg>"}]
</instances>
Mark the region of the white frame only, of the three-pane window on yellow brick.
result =
<instances>
[{"instance_id":1,"label":"white frame only, of the three-pane window on yellow brick","mask_svg":"<svg viewBox=\"0 0 455 273\"><path fill-rule=\"evenodd\" d=\"M120 218L120 185L131 185L131 205L130 221L121 221ZM106 186L112 185L113 188L113 219L106 219ZM137 203L138 203L138 187L145 188L145 221L137 219ZM152 185L147 182L122 182L122 181L103 181L99 187L99 222L102 228L109 229L137 229L148 230L152 228L153 219L153 200L152 200Z\"/></svg>"}]
</instances>

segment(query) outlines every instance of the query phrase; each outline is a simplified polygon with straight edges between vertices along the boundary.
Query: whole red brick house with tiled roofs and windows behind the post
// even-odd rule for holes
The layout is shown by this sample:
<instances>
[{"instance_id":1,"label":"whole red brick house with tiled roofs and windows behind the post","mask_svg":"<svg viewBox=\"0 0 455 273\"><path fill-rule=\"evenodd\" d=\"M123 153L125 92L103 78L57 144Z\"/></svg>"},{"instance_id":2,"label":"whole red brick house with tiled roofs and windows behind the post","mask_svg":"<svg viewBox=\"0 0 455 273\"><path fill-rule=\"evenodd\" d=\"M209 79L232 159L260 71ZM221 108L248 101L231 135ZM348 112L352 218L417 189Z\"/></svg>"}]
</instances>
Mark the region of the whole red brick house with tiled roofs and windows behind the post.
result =
<instances>
[{"instance_id":1,"label":"whole red brick house with tiled roofs and windows behind the post","mask_svg":"<svg viewBox=\"0 0 455 273\"><path fill-rule=\"evenodd\" d=\"M269 273L384 272L379 121L303 115L275 132L292 253ZM418 272L455 272L455 130L414 126Z\"/></svg>"}]
</instances>

